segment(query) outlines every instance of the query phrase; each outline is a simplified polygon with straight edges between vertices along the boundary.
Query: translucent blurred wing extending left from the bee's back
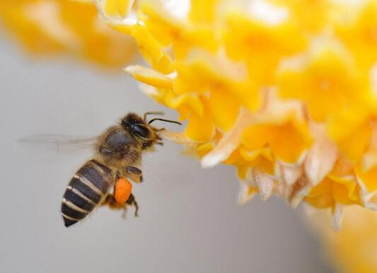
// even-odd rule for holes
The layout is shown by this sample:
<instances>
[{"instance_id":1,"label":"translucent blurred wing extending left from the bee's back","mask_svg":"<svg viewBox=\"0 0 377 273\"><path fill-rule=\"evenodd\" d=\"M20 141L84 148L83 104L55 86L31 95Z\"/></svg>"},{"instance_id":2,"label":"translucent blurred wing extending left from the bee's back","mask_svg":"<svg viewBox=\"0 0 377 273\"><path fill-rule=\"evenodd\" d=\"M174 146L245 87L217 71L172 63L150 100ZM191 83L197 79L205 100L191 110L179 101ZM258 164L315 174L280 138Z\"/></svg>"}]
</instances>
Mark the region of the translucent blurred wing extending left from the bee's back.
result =
<instances>
[{"instance_id":1,"label":"translucent blurred wing extending left from the bee's back","mask_svg":"<svg viewBox=\"0 0 377 273\"><path fill-rule=\"evenodd\" d=\"M93 146L96 136L72 136L66 134L34 134L18 139L18 142L33 145L53 145L58 149L77 149Z\"/></svg>"}]
</instances>

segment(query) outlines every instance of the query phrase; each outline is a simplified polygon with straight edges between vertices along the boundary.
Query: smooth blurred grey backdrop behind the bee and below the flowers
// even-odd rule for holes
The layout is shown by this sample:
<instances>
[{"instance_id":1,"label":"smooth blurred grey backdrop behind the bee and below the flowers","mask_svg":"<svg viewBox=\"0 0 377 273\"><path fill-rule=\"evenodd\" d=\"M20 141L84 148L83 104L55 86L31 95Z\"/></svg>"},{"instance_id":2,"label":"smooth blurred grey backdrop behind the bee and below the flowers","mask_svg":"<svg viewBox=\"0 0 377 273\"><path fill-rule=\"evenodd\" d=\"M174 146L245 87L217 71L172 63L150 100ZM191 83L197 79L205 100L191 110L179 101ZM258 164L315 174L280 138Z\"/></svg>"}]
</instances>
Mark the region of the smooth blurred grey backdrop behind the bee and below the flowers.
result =
<instances>
[{"instance_id":1,"label":"smooth blurred grey backdrop behind the bee and below the flowers","mask_svg":"<svg viewBox=\"0 0 377 273\"><path fill-rule=\"evenodd\" d=\"M139 218L102 208L64 228L64 188L91 151L16 139L96 135L125 112L166 109L126 74L66 57L32 60L4 40L0 88L0 272L331 271L299 210L279 199L238 207L235 170L202 170L175 144L144 158L145 182L134 187Z\"/></svg>"}]
</instances>

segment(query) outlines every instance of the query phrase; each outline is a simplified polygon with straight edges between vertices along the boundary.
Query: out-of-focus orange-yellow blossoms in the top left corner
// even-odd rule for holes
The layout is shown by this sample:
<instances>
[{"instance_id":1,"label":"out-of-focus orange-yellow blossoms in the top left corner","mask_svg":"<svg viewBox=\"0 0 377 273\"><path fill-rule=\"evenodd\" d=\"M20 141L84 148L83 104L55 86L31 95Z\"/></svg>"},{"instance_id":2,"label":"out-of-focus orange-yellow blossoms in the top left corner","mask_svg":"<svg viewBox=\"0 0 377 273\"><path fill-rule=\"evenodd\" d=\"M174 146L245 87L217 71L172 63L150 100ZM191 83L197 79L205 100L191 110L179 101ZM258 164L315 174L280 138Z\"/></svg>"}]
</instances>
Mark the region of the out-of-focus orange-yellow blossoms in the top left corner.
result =
<instances>
[{"instance_id":1,"label":"out-of-focus orange-yellow blossoms in the top left corner","mask_svg":"<svg viewBox=\"0 0 377 273\"><path fill-rule=\"evenodd\" d=\"M95 4L70 0L0 0L0 21L33 54L69 52L121 67L137 49L131 37L100 21Z\"/></svg>"}]
</instances>

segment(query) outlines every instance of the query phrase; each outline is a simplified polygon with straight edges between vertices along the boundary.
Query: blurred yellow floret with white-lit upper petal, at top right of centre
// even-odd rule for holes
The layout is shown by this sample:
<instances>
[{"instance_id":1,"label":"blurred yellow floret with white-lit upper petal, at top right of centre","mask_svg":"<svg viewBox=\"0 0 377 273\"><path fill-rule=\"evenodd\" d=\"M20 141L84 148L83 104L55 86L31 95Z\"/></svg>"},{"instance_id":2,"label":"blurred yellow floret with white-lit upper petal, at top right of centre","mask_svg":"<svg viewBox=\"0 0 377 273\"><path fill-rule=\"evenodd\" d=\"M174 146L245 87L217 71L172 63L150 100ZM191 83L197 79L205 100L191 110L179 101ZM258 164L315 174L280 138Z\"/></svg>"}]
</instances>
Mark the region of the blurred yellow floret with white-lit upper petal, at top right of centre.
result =
<instances>
[{"instance_id":1,"label":"blurred yellow floret with white-lit upper petal, at top right of centre","mask_svg":"<svg viewBox=\"0 0 377 273\"><path fill-rule=\"evenodd\" d=\"M262 2L262 1L260 1ZM289 20L287 11L277 6L257 4L249 7L269 8L272 18L260 18L253 12L233 11L224 14L224 29L221 43L224 43L228 58L243 60L248 65L250 79L260 85L272 84L274 71L282 57L301 52L306 47L306 37L298 25ZM247 10L246 10L247 11Z\"/></svg>"}]
</instances>

